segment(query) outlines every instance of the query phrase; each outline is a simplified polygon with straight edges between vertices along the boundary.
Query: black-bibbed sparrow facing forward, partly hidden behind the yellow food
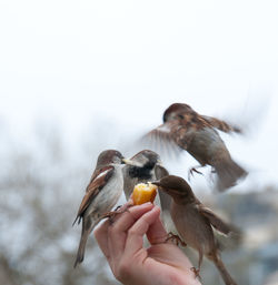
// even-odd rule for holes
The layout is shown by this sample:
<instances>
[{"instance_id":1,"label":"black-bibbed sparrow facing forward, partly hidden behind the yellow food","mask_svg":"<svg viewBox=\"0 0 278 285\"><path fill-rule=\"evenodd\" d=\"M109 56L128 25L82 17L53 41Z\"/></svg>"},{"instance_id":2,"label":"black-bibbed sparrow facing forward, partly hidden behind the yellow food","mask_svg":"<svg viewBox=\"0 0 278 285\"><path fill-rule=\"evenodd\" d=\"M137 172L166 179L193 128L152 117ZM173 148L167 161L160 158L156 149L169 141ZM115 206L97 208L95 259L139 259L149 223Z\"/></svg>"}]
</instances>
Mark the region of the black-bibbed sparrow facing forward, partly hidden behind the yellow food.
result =
<instances>
[{"instance_id":1,"label":"black-bibbed sparrow facing forward, partly hidden behind the yellow food","mask_svg":"<svg viewBox=\"0 0 278 285\"><path fill-rule=\"evenodd\" d=\"M153 180L160 180L169 175L168 171L162 166L160 156L150 150L138 152L131 159L123 159L126 165L122 169L123 173L123 191L126 199L129 200L135 185L138 183L147 183ZM163 192L159 192L160 206L162 216L170 211L170 199Z\"/></svg>"}]
</instances>

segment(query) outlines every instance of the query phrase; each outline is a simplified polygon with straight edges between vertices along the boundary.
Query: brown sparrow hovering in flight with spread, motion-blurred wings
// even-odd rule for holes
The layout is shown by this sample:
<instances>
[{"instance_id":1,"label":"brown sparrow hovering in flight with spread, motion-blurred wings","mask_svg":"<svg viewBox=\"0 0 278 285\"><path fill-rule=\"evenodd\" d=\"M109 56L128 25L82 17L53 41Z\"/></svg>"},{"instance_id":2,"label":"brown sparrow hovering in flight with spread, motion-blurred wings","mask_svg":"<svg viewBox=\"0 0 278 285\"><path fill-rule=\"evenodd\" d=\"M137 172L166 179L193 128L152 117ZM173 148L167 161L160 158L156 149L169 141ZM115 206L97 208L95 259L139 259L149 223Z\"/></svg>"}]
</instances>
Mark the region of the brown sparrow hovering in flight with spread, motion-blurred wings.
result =
<instances>
[{"instance_id":1,"label":"brown sparrow hovering in flight with spread, motion-blurred wings","mask_svg":"<svg viewBox=\"0 0 278 285\"><path fill-rule=\"evenodd\" d=\"M216 129L226 133L241 133L239 128L225 121L198 114L188 104L175 103L165 111L163 124L150 131L145 139L168 142L179 150L186 150L200 163L198 167L210 165L217 174L218 191L225 191L244 179L247 171L231 159ZM193 172L201 174L196 167L189 173Z\"/></svg>"}]
</instances>

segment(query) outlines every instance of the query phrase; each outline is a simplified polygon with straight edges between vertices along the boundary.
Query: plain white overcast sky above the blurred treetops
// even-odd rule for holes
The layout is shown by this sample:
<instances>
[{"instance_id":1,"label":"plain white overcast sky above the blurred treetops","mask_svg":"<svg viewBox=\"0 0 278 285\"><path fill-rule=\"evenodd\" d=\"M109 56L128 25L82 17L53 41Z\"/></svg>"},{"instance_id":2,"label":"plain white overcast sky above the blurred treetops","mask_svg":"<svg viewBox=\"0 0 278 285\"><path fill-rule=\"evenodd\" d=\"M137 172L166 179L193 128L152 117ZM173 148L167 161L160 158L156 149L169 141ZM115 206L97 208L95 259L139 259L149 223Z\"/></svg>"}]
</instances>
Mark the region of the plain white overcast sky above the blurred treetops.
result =
<instances>
[{"instance_id":1,"label":"plain white overcast sky above the blurred treetops","mask_svg":"<svg viewBox=\"0 0 278 285\"><path fill-rule=\"evenodd\" d=\"M249 124L232 156L277 183L277 14L276 0L1 0L0 123L22 141L41 119L141 131L185 102Z\"/></svg>"}]
</instances>

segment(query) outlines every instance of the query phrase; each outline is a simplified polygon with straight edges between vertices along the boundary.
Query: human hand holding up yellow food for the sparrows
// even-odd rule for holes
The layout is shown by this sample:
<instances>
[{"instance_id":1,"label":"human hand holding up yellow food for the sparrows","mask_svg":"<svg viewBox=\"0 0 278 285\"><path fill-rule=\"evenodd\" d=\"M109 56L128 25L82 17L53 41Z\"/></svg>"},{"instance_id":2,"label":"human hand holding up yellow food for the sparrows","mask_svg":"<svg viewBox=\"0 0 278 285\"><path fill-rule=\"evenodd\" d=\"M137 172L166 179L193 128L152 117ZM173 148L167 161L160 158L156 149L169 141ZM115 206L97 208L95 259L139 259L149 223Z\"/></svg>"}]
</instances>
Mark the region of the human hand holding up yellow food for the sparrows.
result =
<instances>
[{"instance_id":1,"label":"human hand holding up yellow food for the sparrows","mask_svg":"<svg viewBox=\"0 0 278 285\"><path fill-rule=\"evenodd\" d=\"M165 243L167 232L159 214L151 203L132 206L95 231L113 275L125 285L200 285L187 256L177 245Z\"/></svg>"}]
</instances>

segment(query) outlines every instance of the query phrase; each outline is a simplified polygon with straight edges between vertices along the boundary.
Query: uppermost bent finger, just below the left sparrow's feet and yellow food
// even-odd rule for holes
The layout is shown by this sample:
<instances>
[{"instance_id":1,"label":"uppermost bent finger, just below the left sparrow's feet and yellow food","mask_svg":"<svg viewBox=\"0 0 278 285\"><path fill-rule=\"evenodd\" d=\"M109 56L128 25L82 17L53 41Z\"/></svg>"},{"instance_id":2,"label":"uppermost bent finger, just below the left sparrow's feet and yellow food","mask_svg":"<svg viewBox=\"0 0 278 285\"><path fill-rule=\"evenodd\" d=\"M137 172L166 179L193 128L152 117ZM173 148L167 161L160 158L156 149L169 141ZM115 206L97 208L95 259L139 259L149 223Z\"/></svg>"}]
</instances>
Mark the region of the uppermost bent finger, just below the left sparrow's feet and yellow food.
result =
<instances>
[{"instance_id":1,"label":"uppermost bent finger, just below the left sparrow's feet and yellow food","mask_svg":"<svg viewBox=\"0 0 278 285\"><path fill-rule=\"evenodd\" d=\"M129 207L128 211L118 215L113 224L108 226L108 248L110 256L115 261L118 261L123 254L127 231L141 215L149 212L152 207L151 203Z\"/></svg>"}]
</instances>

